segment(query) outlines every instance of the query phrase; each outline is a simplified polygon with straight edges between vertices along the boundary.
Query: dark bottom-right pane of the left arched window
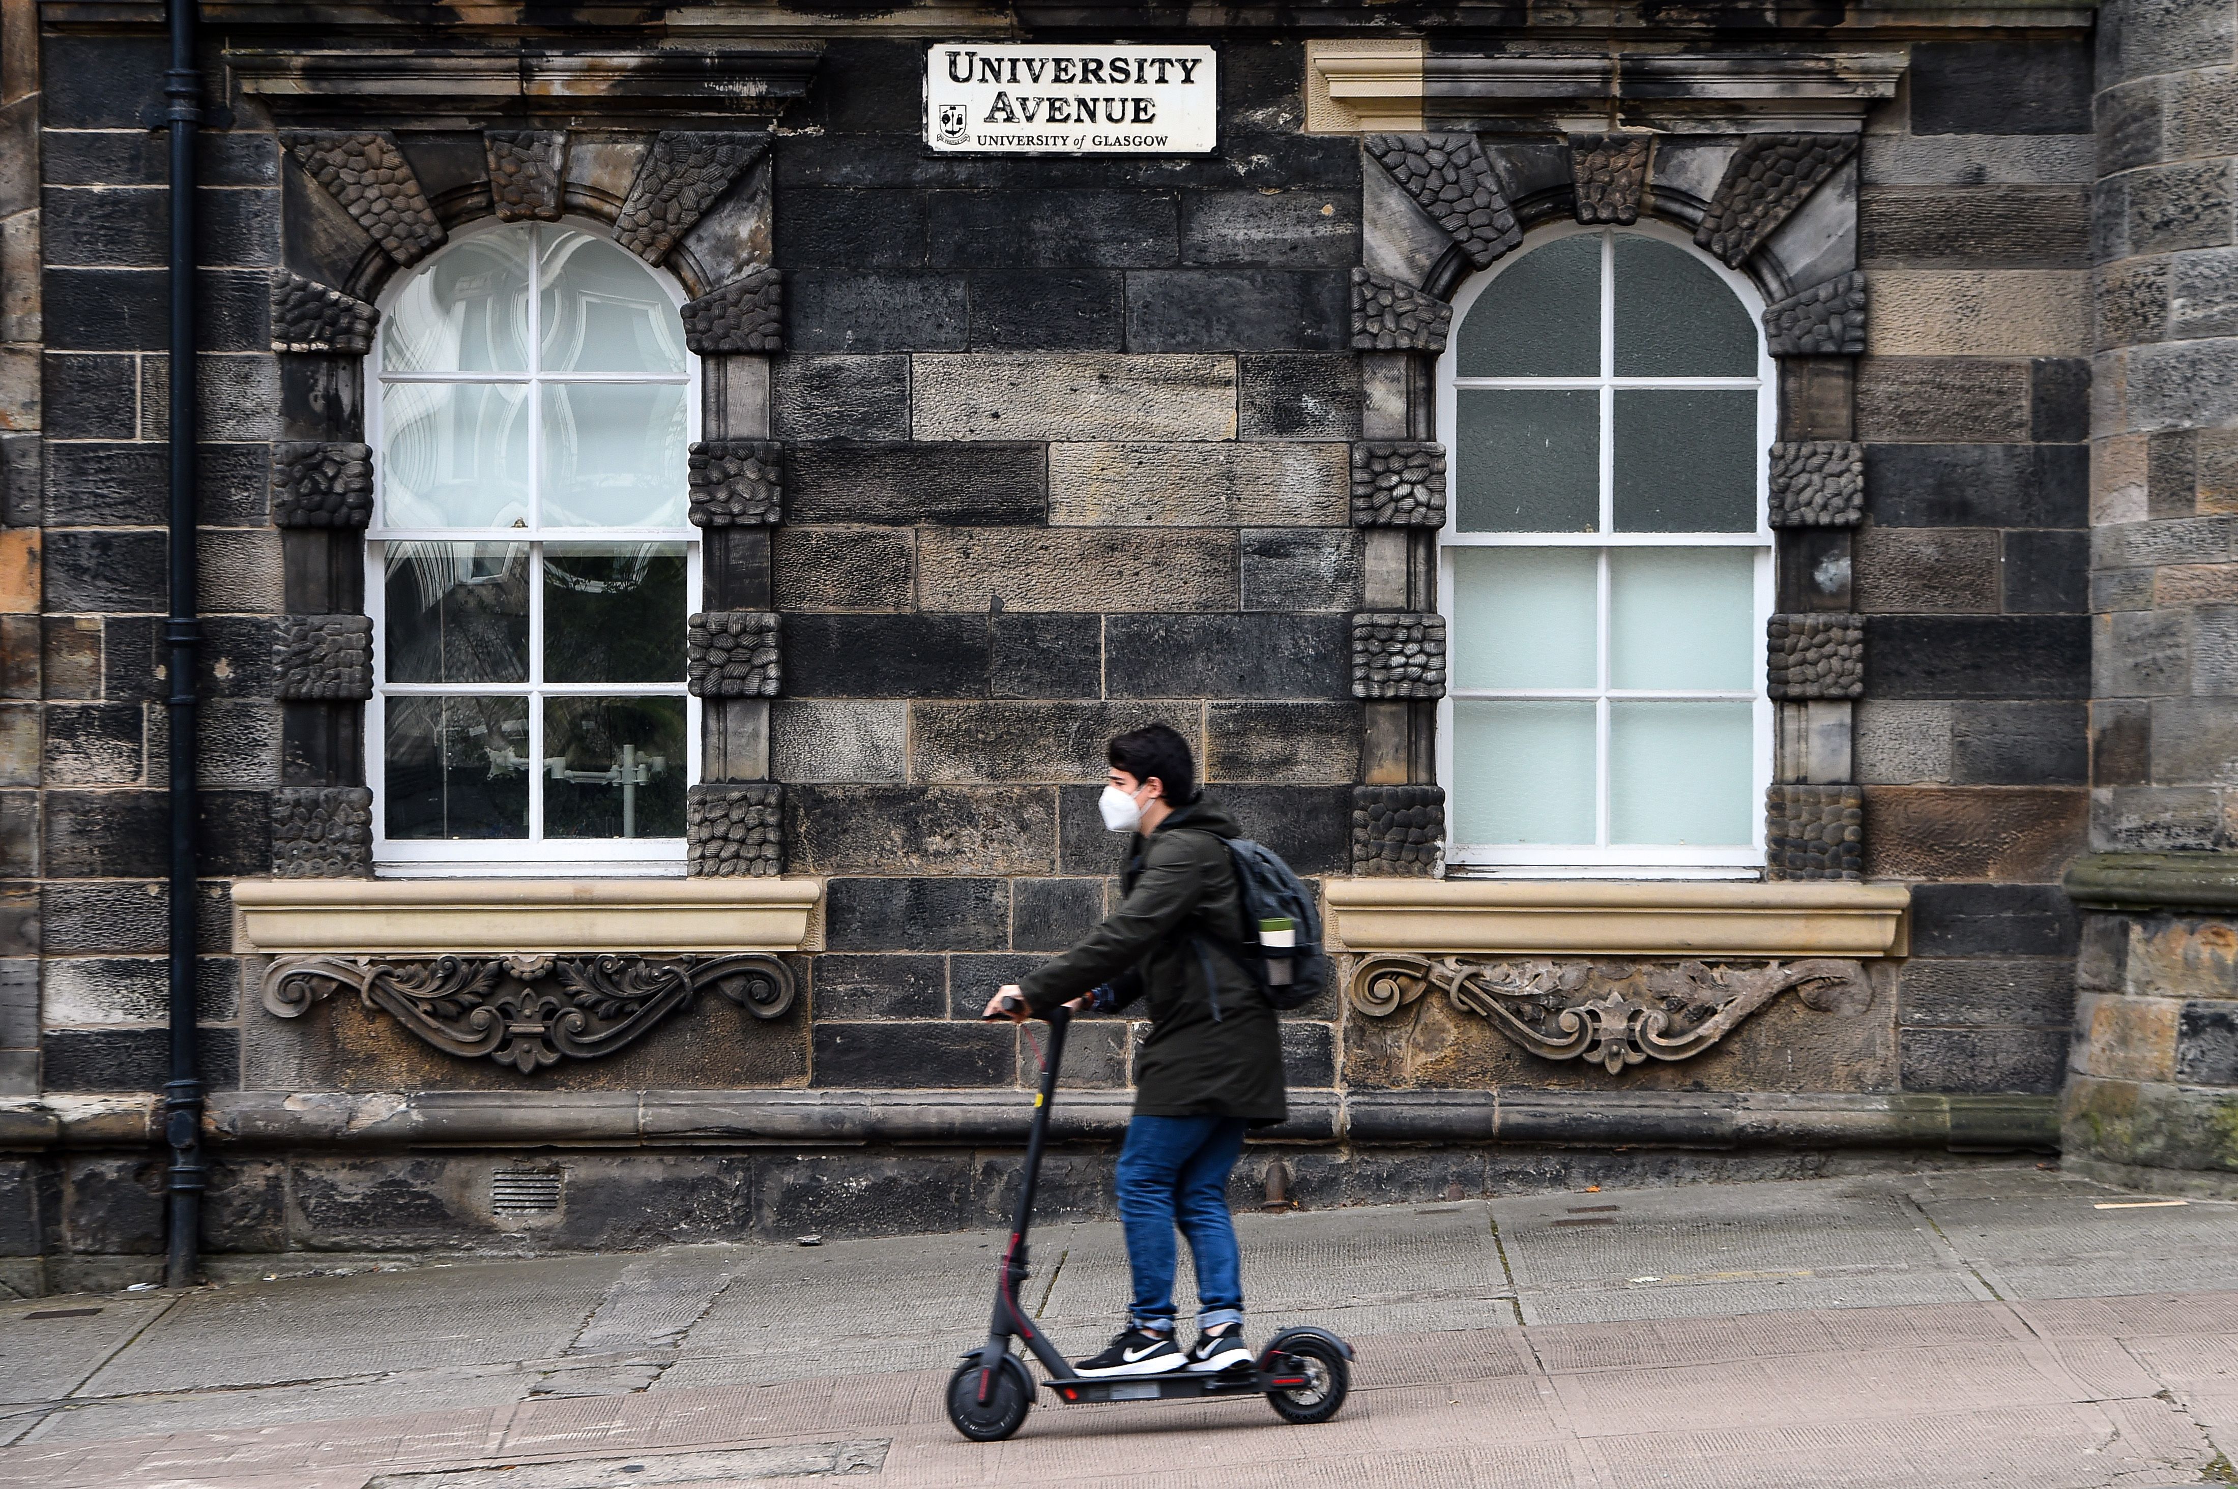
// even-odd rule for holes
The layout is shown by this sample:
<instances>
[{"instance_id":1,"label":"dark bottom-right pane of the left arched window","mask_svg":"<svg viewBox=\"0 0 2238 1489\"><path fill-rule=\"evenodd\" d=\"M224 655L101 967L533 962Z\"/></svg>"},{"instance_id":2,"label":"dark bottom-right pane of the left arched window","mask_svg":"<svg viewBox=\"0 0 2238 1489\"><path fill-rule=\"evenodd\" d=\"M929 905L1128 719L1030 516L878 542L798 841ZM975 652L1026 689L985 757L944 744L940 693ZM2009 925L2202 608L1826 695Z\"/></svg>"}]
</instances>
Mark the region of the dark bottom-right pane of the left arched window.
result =
<instances>
[{"instance_id":1,"label":"dark bottom-right pane of the left arched window","mask_svg":"<svg viewBox=\"0 0 2238 1489\"><path fill-rule=\"evenodd\" d=\"M685 836L683 698L544 700L544 836Z\"/></svg>"}]
</instances>

